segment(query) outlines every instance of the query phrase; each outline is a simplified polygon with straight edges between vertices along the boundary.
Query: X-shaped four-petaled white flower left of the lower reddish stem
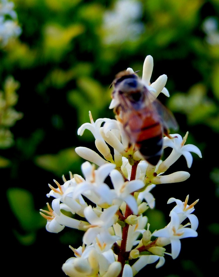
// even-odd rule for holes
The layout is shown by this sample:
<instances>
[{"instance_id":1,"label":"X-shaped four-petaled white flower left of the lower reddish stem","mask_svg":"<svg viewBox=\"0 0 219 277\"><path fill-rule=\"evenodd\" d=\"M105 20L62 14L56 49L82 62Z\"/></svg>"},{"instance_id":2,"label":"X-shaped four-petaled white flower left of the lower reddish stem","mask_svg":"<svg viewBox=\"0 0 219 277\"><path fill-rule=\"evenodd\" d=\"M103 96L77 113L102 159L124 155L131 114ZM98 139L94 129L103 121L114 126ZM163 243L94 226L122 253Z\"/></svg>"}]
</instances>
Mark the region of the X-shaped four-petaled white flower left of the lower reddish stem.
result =
<instances>
[{"instance_id":1,"label":"X-shaped four-petaled white flower left of the lower reddish stem","mask_svg":"<svg viewBox=\"0 0 219 277\"><path fill-rule=\"evenodd\" d=\"M104 209L100 216L97 216L91 206L85 208L85 217L90 223L90 225L88 225L90 228L83 236L83 242L85 244L91 244L98 234L105 243L113 243L120 239L120 237L116 235L111 235L108 230L115 223L115 213L118 208L117 205L110 206L109 208Z\"/></svg>"}]
</instances>

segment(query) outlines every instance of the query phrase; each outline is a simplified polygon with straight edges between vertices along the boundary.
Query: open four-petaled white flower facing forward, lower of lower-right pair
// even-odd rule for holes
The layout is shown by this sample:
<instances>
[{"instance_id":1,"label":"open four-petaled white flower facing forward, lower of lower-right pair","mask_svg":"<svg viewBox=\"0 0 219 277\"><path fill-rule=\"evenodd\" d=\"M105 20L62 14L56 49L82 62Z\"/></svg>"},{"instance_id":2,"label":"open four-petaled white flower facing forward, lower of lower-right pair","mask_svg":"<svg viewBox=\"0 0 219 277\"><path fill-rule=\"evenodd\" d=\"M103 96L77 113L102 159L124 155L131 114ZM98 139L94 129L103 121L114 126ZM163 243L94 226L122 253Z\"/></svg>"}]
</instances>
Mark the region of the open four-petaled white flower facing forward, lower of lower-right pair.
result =
<instances>
[{"instance_id":1,"label":"open four-petaled white flower facing forward, lower of lower-right pair","mask_svg":"<svg viewBox=\"0 0 219 277\"><path fill-rule=\"evenodd\" d=\"M155 231L153 235L155 237L160 237L161 240L162 237L164 237L165 239L168 239L170 241L172 258L176 259L181 249L180 239L183 239L185 237L197 237L198 234L192 228L182 226L180 224L178 214L174 211L170 212L170 216L170 223L165 228Z\"/></svg>"}]
</instances>

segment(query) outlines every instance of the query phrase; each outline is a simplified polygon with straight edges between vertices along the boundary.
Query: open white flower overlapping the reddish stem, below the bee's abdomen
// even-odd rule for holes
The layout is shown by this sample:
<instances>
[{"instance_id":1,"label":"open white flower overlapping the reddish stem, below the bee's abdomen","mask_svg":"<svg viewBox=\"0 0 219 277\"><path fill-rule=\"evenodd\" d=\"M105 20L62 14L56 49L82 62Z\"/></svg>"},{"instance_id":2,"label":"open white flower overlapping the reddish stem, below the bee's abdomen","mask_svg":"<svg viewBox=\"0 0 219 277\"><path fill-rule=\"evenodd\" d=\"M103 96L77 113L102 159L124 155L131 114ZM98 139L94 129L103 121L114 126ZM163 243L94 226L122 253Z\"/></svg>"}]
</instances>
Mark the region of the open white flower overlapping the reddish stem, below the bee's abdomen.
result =
<instances>
[{"instance_id":1,"label":"open white flower overlapping the reddish stem, below the bee's abdomen","mask_svg":"<svg viewBox=\"0 0 219 277\"><path fill-rule=\"evenodd\" d=\"M138 205L131 193L144 187L144 182L141 180L124 182L124 178L116 169L111 171L110 178L115 192L113 203L120 206L125 201L133 213L137 214Z\"/></svg>"}]
</instances>

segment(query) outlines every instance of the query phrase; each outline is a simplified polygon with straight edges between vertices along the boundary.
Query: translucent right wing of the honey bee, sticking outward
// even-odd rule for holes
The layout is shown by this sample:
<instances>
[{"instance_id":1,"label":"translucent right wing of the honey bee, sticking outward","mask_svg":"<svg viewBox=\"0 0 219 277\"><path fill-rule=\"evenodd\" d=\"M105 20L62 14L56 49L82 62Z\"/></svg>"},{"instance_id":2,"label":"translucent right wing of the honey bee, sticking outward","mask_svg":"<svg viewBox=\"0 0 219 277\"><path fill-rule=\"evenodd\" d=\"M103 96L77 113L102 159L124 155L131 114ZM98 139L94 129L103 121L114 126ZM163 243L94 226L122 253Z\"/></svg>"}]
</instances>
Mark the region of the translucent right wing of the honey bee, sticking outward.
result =
<instances>
[{"instance_id":1,"label":"translucent right wing of the honey bee, sticking outward","mask_svg":"<svg viewBox=\"0 0 219 277\"><path fill-rule=\"evenodd\" d=\"M161 122L166 130L178 129L178 123L176 122L174 115L158 99L154 99L154 101L151 102L151 105L153 105L154 109L156 109L161 119Z\"/></svg>"}]
</instances>

